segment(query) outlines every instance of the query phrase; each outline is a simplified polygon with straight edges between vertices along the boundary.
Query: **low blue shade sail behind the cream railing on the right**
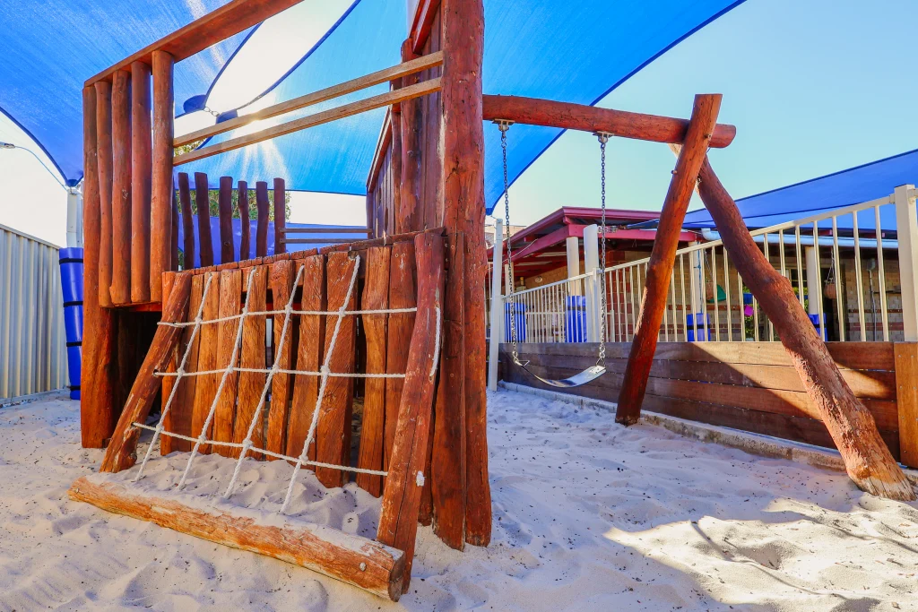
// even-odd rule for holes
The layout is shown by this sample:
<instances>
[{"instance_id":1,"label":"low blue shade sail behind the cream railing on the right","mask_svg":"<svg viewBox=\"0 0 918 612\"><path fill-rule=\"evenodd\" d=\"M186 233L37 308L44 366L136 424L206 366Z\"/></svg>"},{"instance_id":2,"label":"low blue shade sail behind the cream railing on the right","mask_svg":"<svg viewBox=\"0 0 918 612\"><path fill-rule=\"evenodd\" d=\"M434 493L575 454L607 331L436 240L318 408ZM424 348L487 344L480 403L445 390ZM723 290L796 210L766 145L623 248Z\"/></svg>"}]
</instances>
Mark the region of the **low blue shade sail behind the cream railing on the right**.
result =
<instances>
[{"instance_id":1,"label":"low blue shade sail behind the cream railing on the right","mask_svg":"<svg viewBox=\"0 0 918 612\"><path fill-rule=\"evenodd\" d=\"M768 228L805 217L820 215L835 208L844 208L891 195L903 184L918 184L918 150L911 150L884 160L872 161L862 166L834 172L826 176L788 185L764 194L750 195L736 200L746 227ZM881 206L880 227L895 230L896 214L893 206ZM825 227L831 221L824 221ZM853 228L850 214L838 217L840 229ZM877 220L872 208L857 214L857 227L872 231ZM686 215L683 228L713 228L711 214L704 208ZM822 227L822 224L821 224ZM824 229L823 228L823 229Z\"/></svg>"}]
</instances>

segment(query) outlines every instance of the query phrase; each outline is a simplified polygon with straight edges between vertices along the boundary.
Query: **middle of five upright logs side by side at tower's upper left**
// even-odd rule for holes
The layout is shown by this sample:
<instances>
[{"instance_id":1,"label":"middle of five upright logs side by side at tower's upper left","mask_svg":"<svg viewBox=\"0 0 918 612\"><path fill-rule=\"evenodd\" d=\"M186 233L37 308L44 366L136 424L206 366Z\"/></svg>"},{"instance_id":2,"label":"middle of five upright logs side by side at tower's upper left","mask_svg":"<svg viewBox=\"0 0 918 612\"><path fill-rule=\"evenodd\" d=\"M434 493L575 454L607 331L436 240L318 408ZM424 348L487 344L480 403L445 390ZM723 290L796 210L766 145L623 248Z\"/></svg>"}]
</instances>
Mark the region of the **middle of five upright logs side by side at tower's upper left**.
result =
<instances>
[{"instance_id":1,"label":"middle of five upright logs side by side at tower's upper left","mask_svg":"<svg viewBox=\"0 0 918 612\"><path fill-rule=\"evenodd\" d=\"M130 304L130 72L112 83L112 303Z\"/></svg>"}]
</instances>

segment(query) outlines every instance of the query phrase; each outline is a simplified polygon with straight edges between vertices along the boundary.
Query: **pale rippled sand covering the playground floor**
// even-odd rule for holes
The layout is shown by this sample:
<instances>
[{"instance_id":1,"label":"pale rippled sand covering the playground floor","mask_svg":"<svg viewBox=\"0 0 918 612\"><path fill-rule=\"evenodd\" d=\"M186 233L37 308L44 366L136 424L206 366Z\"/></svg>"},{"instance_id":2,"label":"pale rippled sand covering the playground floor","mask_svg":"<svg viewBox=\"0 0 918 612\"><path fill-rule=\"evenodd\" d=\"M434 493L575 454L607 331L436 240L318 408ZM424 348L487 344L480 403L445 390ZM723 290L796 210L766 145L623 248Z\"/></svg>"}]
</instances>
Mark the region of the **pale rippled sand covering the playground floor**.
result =
<instances>
[{"instance_id":1,"label":"pale rippled sand covering the playground floor","mask_svg":"<svg viewBox=\"0 0 918 612\"><path fill-rule=\"evenodd\" d=\"M608 412L489 395L494 537L448 550L419 532L398 604L286 564L68 500L101 451L79 406L0 409L0 610L915 610L918 505L843 474L614 424ZM168 488L177 456L151 463ZM190 492L231 464L196 465ZM247 462L234 503L276 507L289 467ZM294 512L371 535L378 502L297 485Z\"/></svg>"}]
</instances>

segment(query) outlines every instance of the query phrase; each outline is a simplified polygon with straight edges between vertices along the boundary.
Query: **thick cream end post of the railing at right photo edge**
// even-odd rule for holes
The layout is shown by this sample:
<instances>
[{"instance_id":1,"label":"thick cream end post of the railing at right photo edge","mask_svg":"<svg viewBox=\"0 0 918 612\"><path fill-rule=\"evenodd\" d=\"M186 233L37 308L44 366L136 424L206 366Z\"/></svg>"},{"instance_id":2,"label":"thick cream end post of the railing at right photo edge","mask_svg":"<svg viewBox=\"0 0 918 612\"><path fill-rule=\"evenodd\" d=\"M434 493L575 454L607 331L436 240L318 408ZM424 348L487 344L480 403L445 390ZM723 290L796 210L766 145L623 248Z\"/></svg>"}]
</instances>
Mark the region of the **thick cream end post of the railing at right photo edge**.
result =
<instances>
[{"instance_id":1,"label":"thick cream end post of the railing at right photo edge","mask_svg":"<svg viewBox=\"0 0 918 612\"><path fill-rule=\"evenodd\" d=\"M914 185L896 187L896 234L899 238L899 278L902 285L902 329L905 341L918 340L918 217Z\"/></svg>"}]
</instances>

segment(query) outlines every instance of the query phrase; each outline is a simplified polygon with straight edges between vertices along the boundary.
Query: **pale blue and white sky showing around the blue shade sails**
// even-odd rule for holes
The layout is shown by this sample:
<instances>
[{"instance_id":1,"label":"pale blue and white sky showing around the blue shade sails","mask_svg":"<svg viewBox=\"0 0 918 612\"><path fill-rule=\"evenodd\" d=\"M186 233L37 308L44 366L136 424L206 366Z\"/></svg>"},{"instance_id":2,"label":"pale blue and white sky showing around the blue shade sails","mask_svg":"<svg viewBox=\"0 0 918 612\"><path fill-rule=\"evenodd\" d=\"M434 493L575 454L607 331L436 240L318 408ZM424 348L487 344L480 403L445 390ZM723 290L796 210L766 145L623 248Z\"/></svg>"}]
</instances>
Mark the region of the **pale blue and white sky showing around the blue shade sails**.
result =
<instances>
[{"instance_id":1,"label":"pale blue and white sky showing around the blue shade sails","mask_svg":"<svg viewBox=\"0 0 918 612\"><path fill-rule=\"evenodd\" d=\"M721 120L737 137L711 161L734 197L752 195L918 148L916 28L914 0L747 0L600 106L688 117L693 95L722 93ZM0 140L22 143L16 132L0 121ZM0 154L0 224L62 244L61 187L27 153ZM659 210L674 161L665 145L613 139L609 206ZM599 206L596 139L565 134L510 195L514 223ZM295 221L364 223L363 198L353 196L295 195L292 209Z\"/></svg>"}]
</instances>

